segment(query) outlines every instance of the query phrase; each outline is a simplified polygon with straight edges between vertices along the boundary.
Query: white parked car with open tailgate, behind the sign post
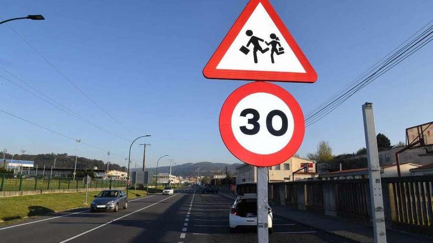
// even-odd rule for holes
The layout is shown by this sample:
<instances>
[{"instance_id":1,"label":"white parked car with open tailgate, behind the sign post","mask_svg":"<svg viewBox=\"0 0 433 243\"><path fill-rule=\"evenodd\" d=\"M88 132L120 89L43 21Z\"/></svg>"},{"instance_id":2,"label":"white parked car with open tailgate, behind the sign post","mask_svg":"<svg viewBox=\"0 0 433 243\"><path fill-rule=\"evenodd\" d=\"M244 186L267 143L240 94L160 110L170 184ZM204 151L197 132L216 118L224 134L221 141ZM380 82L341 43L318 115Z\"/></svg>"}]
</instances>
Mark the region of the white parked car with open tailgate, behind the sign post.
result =
<instances>
[{"instance_id":1,"label":"white parked car with open tailgate, behind the sign post","mask_svg":"<svg viewBox=\"0 0 433 243\"><path fill-rule=\"evenodd\" d=\"M254 182L240 183L236 185L236 194L238 196L229 214L230 233L234 233L237 228L241 227L257 227L257 184ZM272 220L272 210L268 205L269 233L274 232Z\"/></svg>"}]
</instances>

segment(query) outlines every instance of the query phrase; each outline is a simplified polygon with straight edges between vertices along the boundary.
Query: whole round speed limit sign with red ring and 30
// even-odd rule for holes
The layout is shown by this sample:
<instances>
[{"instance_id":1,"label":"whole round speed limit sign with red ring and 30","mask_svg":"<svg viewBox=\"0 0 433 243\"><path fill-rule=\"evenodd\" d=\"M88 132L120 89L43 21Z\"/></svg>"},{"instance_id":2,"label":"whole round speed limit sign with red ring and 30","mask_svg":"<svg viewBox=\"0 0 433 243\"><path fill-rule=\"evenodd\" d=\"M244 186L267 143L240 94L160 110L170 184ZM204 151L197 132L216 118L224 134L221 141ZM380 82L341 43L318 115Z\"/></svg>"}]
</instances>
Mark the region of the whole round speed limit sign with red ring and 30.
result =
<instances>
[{"instance_id":1,"label":"whole round speed limit sign with red ring and 30","mask_svg":"<svg viewBox=\"0 0 433 243\"><path fill-rule=\"evenodd\" d=\"M301 146L304 114L285 89L269 82L251 82L233 91L224 102L219 132L239 160L260 167L277 165Z\"/></svg>"}]
</instances>

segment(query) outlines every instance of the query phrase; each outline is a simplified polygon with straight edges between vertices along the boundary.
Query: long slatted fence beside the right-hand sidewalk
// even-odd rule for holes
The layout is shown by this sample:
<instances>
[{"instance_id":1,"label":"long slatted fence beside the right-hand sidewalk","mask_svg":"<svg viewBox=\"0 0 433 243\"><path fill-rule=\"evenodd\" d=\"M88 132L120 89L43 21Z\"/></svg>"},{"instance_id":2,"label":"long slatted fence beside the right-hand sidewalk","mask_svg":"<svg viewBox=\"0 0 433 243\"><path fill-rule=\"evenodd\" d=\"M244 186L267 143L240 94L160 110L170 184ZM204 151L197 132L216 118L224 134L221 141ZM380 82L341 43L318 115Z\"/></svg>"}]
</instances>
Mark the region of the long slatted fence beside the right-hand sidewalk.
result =
<instances>
[{"instance_id":1,"label":"long slatted fence beside the right-hand sidewalk","mask_svg":"<svg viewBox=\"0 0 433 243\"><path fill-rule=\"evenodd\" d=\"M387 227L433 235L433 176L382 178ZM271 183L270 203L371 222L368 179Z\"/></svg>"}]
</instances>

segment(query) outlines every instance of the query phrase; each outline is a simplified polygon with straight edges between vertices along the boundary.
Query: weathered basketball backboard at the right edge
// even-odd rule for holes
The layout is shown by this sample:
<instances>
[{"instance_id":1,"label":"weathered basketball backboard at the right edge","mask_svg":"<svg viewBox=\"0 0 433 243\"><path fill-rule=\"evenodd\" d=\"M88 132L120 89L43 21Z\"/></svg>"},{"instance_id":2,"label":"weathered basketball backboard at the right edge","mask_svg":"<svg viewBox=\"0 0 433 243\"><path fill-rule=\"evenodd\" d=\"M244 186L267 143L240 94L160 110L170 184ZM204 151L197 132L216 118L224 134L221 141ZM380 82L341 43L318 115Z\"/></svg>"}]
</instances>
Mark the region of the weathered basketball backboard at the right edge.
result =
<instances>
[{"instance_id":1,"label":"weathered basketball backboard at the right edge","mask_svg":"<svg viewBox=\"0 0 433 243\"><path fill-rule=\"evenodd\" d=\"M411 128L406 128L407 145L418 142L422 138L421 143L412 148L426 147L433 145L433 122L425 123Z\"/></svg>"}]
</instances>

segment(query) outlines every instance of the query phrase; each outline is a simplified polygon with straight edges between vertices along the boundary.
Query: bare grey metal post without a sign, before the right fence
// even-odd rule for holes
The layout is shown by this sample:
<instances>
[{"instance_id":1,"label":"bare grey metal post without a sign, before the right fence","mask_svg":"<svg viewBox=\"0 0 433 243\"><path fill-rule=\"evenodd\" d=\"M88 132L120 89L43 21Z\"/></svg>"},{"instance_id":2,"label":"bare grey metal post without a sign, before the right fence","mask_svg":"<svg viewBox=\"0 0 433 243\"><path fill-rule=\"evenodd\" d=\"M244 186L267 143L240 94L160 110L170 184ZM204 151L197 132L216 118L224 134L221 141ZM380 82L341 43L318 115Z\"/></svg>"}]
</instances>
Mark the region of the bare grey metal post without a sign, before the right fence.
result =
<instances>
[{"instance_id":1,"label":"bare grey metal post without a sign, before the right fence","mask_svg":"<svg viewBox=\"0 0 433 243\"><path fill-rule=\"evenodd\" d=\"M385 214L383 209L382 183L380 180L379 153L377 151L376 129L374 125L373 104L362 106L364 130L369 166L371 215L373 221L374 242L386 243Z\"/></svg>"}]
</instances>

